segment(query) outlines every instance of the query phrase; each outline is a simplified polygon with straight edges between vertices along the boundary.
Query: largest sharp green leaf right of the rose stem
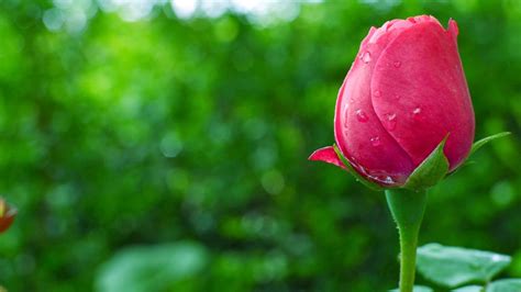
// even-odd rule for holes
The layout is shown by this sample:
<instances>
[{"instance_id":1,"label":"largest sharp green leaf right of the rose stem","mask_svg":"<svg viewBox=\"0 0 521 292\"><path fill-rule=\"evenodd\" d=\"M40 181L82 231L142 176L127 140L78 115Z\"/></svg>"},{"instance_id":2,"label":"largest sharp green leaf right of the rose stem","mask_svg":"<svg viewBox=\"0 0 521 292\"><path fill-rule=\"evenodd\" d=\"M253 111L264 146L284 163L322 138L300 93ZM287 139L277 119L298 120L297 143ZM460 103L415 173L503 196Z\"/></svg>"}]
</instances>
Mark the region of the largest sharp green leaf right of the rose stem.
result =
<instances>
[{"instance_id":1,"label":"largest sharp green leaf right of the rose stem","mask_svg":"<svg viewBox=\"0 0 521 292\"><path fill-rule=\"evenodd\" d=\"M486 283L510 261L505 255L429 244L418 249L417 267L426 279L455 288L468 282Z\"/></svg>"}]
</instances>

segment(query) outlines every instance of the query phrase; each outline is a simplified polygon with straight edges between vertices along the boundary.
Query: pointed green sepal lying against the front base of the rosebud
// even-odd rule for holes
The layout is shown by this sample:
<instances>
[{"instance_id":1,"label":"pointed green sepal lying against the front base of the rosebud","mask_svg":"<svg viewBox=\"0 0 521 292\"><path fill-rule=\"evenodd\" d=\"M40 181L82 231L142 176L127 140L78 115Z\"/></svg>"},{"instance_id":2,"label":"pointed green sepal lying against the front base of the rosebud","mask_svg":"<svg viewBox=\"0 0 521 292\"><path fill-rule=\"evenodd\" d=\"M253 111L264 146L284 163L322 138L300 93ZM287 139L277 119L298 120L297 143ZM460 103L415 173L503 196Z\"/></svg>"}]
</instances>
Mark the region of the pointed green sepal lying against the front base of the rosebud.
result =
<instances>
[{"instance_id":1,"label":"pointed green sepal lying against the front base of the rosebud","mask_svg":"<svg viewBox=\"0 0 521 292\"><path fill-rule=\"evenodd\" d=\"M448 135L434 148L434 150L412 171L403 188L410 190L426 189L442 180L448 171L448 160L443 154L443 147Z\"/></svg>"}]
</instances>

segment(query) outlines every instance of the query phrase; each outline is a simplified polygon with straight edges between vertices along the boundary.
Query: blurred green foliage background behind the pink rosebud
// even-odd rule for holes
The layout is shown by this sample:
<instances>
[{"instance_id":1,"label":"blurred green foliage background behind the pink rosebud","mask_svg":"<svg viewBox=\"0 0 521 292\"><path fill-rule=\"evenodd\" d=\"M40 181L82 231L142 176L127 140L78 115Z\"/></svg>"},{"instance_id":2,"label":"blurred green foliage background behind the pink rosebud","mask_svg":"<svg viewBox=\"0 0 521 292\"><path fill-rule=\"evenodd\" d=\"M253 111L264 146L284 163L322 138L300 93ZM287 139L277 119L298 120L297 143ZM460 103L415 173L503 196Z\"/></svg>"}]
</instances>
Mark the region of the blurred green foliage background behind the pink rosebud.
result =
<instances>
[{"instance_id":1,"label":"blurred green foliage background behind the pink rosebud","mask_svg":"<svg viewBox=\"0 0 521 292\"><path fill-rule=\"evenodd\" d=\"M476 138L513 135L432 190L420 244L521 277L521 1L2 0L0 283L395 288L384 195L307 157L369 27L422 13L459 24Z\"/></svg>"}]
</instances>

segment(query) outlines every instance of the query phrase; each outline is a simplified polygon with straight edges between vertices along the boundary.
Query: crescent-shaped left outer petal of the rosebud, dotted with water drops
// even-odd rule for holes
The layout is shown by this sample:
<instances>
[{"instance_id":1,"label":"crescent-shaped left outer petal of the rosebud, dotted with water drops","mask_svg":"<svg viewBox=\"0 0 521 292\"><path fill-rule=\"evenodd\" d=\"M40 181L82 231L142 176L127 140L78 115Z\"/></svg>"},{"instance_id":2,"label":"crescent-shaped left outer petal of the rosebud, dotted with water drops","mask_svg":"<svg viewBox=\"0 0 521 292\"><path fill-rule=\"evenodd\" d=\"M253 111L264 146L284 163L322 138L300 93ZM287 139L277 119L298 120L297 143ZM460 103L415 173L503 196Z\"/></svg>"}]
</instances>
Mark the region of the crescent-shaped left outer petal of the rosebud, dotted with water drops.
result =
<instances>
[{"instance_id":1,"label":"crescent-shaped left outer petal of the rosebud, dotted with water drops","mask_svg":"<svg viewBox=\"0 0 521 292\"><path fill-rule=\"evenodd\" d=\"M340 149L362 175L380 183L401 183L413 169L408 154L375 114L370 97L378 94L370 89L375 63L401 31L381 34L374 43L367 42L376 34L372 32L364 40L336 101L335 139Z\"/></svg>"}]
</instances>

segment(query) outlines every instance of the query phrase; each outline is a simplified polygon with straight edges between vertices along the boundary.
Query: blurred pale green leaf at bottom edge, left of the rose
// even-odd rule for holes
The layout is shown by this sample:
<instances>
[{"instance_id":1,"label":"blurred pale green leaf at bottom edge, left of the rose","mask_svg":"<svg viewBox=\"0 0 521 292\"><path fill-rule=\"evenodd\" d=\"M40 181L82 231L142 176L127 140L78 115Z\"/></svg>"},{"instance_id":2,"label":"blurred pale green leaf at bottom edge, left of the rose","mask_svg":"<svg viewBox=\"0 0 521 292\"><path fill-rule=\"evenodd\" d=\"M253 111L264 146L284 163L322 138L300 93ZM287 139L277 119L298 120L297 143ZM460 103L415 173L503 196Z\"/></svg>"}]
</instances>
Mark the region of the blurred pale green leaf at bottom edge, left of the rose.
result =
<instances>
[{"instance_id":1,"label":"blurred pale green leaf at bottom edge, left of the rose","mask_svg":"<svg viewBox=\"0 0 521 292\"><path fill-rule=\"evenodd\" d=\"M125 248L101 266L97 291L170 291L176 282L196 277L207 262L206 249L191 242Z\"/></svg>"}]
</instances>

